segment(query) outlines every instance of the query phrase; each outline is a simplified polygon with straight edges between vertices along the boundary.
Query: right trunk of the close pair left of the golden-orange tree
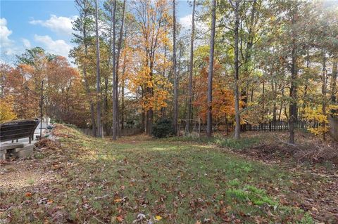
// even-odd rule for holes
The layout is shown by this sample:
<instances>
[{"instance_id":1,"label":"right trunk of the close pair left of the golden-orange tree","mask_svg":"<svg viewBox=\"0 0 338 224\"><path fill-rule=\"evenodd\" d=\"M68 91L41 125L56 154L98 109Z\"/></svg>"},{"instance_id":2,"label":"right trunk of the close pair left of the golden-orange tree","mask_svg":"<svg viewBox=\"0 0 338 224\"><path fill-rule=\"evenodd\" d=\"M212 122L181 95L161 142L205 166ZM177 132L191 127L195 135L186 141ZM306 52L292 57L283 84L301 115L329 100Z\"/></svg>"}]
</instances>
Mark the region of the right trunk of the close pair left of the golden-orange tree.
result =
<instances>
[{"instance_id":1,"label":"right trunk of the close pair left of the golden-orange tree","mask_svg":"<svg viewBox=\"0 0 338 224\"><path fill-rule=\"evenodd\" d=\"M125 0L123 1L122 8L122 18L121 18L121 27L120 27L120 37L118 39L118 55L116 58L116 86L115 86L115 101L116 101L116 130L118 131L118 136L121 136L120 133L120 122L119 122L119 110L118 110L118 69L120 64L120 52L122 48L123 41L123 25L125 24Z\"/></svg>"}]
</instances>

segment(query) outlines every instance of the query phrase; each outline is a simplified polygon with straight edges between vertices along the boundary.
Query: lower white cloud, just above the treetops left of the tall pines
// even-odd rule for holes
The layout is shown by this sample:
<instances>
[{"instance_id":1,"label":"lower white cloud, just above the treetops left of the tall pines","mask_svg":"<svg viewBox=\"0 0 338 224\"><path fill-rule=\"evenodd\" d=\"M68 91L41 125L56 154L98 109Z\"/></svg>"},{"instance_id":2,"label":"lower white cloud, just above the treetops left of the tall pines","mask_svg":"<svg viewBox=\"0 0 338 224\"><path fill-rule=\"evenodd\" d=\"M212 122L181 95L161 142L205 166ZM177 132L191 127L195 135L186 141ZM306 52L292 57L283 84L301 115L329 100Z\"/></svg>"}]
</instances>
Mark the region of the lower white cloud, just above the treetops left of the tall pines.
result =
<instances>
[{"instance_id":1,"label":"lower white cloud, just above the treetops left of the tall pines","mask_svg":"<svg viewBox=\"0 0 338 224\"><path fill-rule=\"evenodd\" d=\"M49 53L54 53L56 55L64 56L68 58L68 54L72 46L67 44L64 40L58 39L53 40L48 35L46 36L39 36L37 34L34 35L35 41L43 45L43 48L46 49Z\"/></svg>"}]
</instances>

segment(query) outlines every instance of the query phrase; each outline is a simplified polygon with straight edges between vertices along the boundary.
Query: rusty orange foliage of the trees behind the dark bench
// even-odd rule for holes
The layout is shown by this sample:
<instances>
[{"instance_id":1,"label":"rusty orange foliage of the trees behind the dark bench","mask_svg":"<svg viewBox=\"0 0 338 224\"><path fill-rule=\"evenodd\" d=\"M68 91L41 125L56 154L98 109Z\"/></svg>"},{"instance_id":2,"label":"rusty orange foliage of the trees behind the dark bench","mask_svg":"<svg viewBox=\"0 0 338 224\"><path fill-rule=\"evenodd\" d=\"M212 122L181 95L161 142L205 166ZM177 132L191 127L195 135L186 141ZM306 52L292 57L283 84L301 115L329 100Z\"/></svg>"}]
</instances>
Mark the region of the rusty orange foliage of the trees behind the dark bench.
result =
<instances>
[{"instance_id":1,"label":"rusty orange foliage of the trees behind the dark bench","mask_svg":"<svg viewBox=\"0 0 338 224\"><path fill-rule=\"evenodd\" d=\"M54 111L58 111L56 117L73 124L76 122L64 119L70 117L67 110L72 108L82 113L84 111L80 106L75 105L75 103L81 104L82 99L83 86L80 74L64 57L57 56L52 60L46 60L46 55L39 55L39 58L32 59L32 65L20 64L8 69L5 75L4 93L13 98L11 105L15 105L13 112L18 119L39 116L42 80L44 80L43 110L47 102L49 105L53 104ZM49 112L52 111L49 110ZM79 117L83 121L78 114L73 117Z\"/></svg>"}]
</instances>

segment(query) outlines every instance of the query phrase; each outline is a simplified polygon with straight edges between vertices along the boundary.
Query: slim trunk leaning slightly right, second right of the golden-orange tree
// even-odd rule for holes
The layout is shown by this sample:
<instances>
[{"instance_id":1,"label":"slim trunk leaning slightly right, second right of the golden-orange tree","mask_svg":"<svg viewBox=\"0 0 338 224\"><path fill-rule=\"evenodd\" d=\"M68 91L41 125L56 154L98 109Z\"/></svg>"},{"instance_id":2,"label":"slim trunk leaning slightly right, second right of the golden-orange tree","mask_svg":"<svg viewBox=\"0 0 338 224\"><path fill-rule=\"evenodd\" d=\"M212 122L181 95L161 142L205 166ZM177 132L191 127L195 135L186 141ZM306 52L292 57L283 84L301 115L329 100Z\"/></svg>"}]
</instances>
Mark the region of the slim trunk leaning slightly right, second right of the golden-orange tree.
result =
<instances>
[{"instance_id":1,"label":"slim trunk leaning slightly right, second right of the golden-orange tree","mask_svg":"<svg viewBox=\"0 0 338 224\"><path fill-rule=\"evenodd\" d=\"M190 65L189 65L189 84L188 84L188 112L185 133L189 133L192 119L192 72L194 70L194 34L195 34L195 6L196 0L192 4L192 37L190 39Z\"/></svg>"}]
</instances>

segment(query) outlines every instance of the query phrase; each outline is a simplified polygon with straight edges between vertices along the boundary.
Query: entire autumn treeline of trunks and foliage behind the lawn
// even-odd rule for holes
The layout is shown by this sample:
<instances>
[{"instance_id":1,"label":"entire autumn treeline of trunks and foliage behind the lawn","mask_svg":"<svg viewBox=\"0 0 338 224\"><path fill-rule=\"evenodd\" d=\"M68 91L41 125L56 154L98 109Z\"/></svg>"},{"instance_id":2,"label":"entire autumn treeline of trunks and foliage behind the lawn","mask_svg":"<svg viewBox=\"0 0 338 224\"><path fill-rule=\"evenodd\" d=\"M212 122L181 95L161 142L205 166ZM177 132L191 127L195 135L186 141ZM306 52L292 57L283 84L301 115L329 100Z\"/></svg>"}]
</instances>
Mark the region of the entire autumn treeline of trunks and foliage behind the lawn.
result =
<instances>
[{"instance_id":1,"label":"entire autumn treeline of trunks and foliage behind the lawn","mask_svg":"<svg viewBox=\"0 0 338 224\"><path fill-rule=\"evenodd\" d=\"M89 127L94 136L161 118L186 133L213 124L318 121L337 111L338 4L334 1L189 1L191 24L175 0L75 0L70 51L75 65L42 48L1 64L1 120L39 116Z\"/></svg>"}]
</instances>

